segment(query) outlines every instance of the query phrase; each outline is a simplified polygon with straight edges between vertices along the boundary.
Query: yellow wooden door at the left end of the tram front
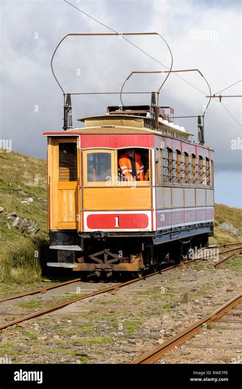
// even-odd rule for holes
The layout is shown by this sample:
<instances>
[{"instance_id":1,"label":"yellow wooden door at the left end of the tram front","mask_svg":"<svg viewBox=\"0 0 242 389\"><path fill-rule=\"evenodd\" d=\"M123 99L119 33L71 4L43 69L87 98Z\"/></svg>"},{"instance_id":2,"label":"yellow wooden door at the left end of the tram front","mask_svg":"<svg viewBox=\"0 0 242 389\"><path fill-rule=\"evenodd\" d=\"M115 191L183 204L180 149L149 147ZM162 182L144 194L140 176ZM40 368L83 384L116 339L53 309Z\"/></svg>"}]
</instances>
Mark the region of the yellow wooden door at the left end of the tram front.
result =
<instances>
[{"instance_id":1,"label":"yellow wooden door at the left end of the tram front","mask_svg":"<svg viewBox=\"0 0 242 389\"><path fill-rule=\"evenodd\" d=\"M77 138L53 137L49 140L48 178L49 229L80 231L80 150Z\"/></svg>"}]
</instances>

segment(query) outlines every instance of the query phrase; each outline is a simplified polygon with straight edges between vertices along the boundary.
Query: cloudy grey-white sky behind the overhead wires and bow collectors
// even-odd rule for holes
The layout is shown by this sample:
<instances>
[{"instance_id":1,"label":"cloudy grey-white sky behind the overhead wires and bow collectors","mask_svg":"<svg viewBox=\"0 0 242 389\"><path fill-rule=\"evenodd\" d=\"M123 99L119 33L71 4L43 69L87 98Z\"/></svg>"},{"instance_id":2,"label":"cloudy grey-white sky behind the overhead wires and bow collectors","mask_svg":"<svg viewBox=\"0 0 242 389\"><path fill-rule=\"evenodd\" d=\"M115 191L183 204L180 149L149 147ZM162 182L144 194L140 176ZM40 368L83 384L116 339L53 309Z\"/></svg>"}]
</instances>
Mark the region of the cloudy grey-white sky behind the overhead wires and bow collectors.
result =
<instances>
[{"instance_id":1,"label":"cloudy grey-white sky behind the overhead wires and bow collectors","mask_svg":"<svg viewBox=\"0 0 242 389\"><path fill-rule=\"evenodd\" d=\"M199 68L212 93L241 80L241 2L212 0L69 0L119 33L157 32L171 47L173 69ZM44 131L62 129L63 96L51 72L51 57L69 33L110 33L64 0L4 1L1 5L1 133L14 151L46 157ZM171 56L159 37L128 37L151 57L120 37L71 37L58 48L54 70L67 92L118 92L131 71L166 70ZM175 116L203 113L209 94L197 72L170 75L162 106ZM157 90L164 75L134 75L125 91ZM241 84L222 92L241 95ZM196 89L197 88L197 89ZM129 103L150 103L149 94L124 95ZM76 118L119 105L118 95L72 97ZM228 112L229 111L229 112ZM176 119L195 134L196 118ZM215 201L241 207L241 98L212 99L205 116L205 142L215 150ZM236 143L233 141L236 140ZM231 143L232 142L232 143ZM241 141L242 143L242 141ZM231 144L235 144L233 149ZM235 149L234 149L235 148Z\"/></svg>"}]
</instances>

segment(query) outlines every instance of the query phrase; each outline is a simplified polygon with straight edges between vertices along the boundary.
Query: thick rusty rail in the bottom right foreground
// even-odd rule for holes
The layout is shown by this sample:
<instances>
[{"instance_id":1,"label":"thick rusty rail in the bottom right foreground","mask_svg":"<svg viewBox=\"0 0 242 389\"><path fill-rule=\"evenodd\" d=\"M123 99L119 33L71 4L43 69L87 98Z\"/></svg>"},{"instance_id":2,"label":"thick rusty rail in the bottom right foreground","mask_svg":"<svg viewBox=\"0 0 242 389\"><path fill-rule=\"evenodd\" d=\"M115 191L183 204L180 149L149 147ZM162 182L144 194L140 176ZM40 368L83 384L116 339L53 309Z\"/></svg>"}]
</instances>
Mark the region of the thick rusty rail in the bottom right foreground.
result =
<instances>
[{"instance_id":1,"label":"thick rusty rail in the bottom right foreground","mask_svg":"<svg viewBox=\"0 0 242 389\"><path fill-rule=\"evenodd\" d=\"M210 315L192 324L190 327L179 332L177 335L172 336L166 342L163 342L153 350L141 355L140 357L132 360L131 364L153 364L167 351L172 350L175 346L179 346L186 340L190 339L192 335L203 330L202 325L205 323L211 323L214 320L221 318L225 315L233 306L242 301L242 293L233 297L231 300L214 310Z\"/></svg>"}]
</instances>

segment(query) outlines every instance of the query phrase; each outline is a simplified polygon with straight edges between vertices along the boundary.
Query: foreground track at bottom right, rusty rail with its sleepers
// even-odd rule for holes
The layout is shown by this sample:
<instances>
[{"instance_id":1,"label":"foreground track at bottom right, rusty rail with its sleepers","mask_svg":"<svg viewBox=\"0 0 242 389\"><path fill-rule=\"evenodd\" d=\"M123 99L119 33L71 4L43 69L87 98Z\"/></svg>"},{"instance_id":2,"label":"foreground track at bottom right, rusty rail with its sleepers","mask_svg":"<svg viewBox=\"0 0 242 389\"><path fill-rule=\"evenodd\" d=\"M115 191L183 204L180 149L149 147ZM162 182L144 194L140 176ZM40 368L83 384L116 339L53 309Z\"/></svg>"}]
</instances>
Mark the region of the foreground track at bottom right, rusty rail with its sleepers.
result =
<instances>
[{"instance_id":1,"label":"foreground track at bottom right, rusty rail with its sleepers","mask_svg":"<svg viewBox=\"0 0 242 389\"><path fill-rule=\"evenodd\" d=\"M177 363L177 360L179 360L179 359L181 360L181 362L183 362L183 360L185 358L192 359L192 360L201 358L201 355L190 355L189 357L187 357L187 355L184 356L184 355L179 354L180 349L178 349L178 346L180 346L181 344L184 344L185 348L187 348L187 349L189 349L189 348L193 349L193 350L197 349L198 350L197 354L199 354L199 350L201 350L202 348L204 348L204 349L220 349L220 351L221 351L221 349L223 349L223 345L221 346L220 344L216 344L216 343L211 342L211 341L214 338L217 339L217 338L221 337L221 332L218 332L218 331L221 331L221 330L230 330L230 331L241 330L241 326L240 327L237 326L238 323L242 322L242 320L240 319L242 316L241 309L240 310L234 309L233 312L230 312L230 310L238 304L240 304L240 307L241 307L241 303L242 303L242 293L238 294L237 296L235 296L232 299L230 299L229 301L227 301L225 304L223 304L222 306L217 308L210 315L207 315L206 317L197 321L196 323L193 323L191 326L187 327L186 329L184 329L180 333L172 336L170 339L168 339L166 342L163 342L158 347L156 347L156 348L152 349L151 351L134 359L131 362L131 364L153 364L154 362L159 363L161 357L164 357L166 360L170 360L170 359L174 360L175 359L176 363ZM237 312L236 312L236 310L237 310ZM213 329L215 331L215 333L213 334L213 336L211 336L208 328L211 328L211 324L215 321L216 321L216 324L214 325L214 329ZM221 323L221 322L226 323L226 325L225 326L217 326L218 322L219 323ZM231 323L234 326L230 326ZM203 332L205 331L205 335L203 333L203 339L207 340L207 338L208 338L209 344L201 344L200 343L201 337L199 338L199 342L197 342L198 338L196 339L196 336L192 339L192 343L187 343L187 341L190 340L192 338L192 336L198 334L201 331L203 331ZM226 335L224 335L224 336L226 339ZM236 334L235 334L235 336L233 336L233 334L230 335L230 338L236 339L236 336L237 336L237 338L239 338L239 335L236 335ZM239 349L239 346L236 344L233 344L232 346L231 346L231 344L229 344L227 346L228 346L227 349L235 349L235 350ZM175 352L167 355L168 351L171 351L174 349L176 350ZM224 349L226 349L226 347L224 347ZM234 352L233 356L236 359L236 356L237 356L236 351ZM213 353L213 355L206 355L206 358L209 359L209 362L211 362L211 360L228 359L228 356L225 357L224 355L214 355L214 353ZM229 359L232 359L231 356L229 356ZM160 362L164 363L164 359L162 359L162 361L160 361ZM234 363L236 363L236 361L234 361Z\"/></svg>"}]
</instances>

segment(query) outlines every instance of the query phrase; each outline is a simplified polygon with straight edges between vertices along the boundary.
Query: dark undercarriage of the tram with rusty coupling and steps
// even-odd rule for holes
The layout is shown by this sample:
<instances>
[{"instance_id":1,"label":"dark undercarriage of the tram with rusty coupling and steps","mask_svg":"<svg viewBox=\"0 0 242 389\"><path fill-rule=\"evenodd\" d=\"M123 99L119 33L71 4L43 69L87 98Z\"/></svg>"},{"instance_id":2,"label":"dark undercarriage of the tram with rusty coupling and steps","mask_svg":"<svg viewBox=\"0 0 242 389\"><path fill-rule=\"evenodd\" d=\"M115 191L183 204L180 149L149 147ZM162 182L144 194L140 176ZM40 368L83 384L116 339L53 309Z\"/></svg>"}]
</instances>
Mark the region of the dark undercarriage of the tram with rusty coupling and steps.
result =
<instances>
[{"instance_id":1,"label":"dark undercarriage of the tram with rusty coupling and steps","mask_svg":"<svg viewBox=\"0 0 242 389\"><path fill-rule=\"evenodd\" d=\"M56 250L57 262L47 263L47 266L70 268L98 277L127 272L141 277L144 271L158 271L163 262L181 263L184 258L191 259L191 249L197 251L208 246L213 226L157 232L124 236L122 232L51 231L50 248Z\"/></svg>"}]
</instances>

